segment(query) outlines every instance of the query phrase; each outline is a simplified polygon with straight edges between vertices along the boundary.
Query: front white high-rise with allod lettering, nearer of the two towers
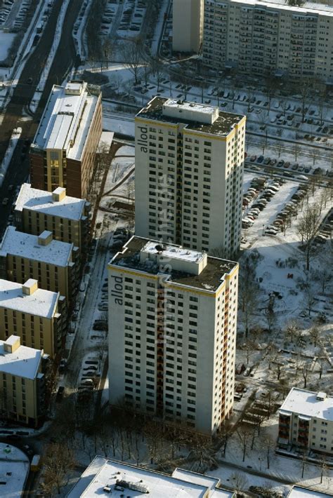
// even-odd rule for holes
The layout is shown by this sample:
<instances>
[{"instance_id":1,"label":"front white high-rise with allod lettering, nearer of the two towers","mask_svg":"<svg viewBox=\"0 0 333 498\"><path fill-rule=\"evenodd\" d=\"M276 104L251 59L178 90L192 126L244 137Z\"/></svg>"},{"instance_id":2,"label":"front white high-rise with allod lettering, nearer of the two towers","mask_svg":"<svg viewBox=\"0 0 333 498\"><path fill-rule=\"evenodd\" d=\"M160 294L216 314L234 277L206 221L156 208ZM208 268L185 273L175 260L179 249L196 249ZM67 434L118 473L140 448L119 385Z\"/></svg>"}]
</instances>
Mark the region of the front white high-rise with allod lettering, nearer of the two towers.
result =
<instances>
[{"instance_id":1,"label":"front white high-rise with allod lettering, nearer of the two towers","mask_svg":"<svg viewBox=\"0 0 333 498\"><path fill-rule=\"evenodd\" d=\"M238 264L133 236L108 274L110 405L214 433L233 410Z\"/></svg>"}]
</instances>

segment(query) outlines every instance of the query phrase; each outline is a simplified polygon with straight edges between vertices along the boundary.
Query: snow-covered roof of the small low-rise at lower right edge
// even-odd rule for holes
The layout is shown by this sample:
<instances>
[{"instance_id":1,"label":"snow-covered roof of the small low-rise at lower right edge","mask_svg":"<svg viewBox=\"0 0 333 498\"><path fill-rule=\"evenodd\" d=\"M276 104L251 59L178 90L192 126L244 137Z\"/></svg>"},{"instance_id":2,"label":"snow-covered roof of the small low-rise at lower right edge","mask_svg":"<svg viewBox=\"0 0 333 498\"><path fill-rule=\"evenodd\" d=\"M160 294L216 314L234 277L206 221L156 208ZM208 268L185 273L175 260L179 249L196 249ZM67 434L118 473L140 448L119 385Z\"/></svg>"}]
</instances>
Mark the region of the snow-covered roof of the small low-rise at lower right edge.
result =
<instances>
[{"instance_id":1,"label":"snow-covered roof of the small low-rise at lower right edge","mask_svg":"<svg viewBox=\"0 0 333 498\"><path fill-rule=\"evenodd\" d=\"M318 417L333 421L333 397L317 399L318 393L293 387L285 398L280 411L299 413L308 417Z\"/></svg>"}]
</instances>

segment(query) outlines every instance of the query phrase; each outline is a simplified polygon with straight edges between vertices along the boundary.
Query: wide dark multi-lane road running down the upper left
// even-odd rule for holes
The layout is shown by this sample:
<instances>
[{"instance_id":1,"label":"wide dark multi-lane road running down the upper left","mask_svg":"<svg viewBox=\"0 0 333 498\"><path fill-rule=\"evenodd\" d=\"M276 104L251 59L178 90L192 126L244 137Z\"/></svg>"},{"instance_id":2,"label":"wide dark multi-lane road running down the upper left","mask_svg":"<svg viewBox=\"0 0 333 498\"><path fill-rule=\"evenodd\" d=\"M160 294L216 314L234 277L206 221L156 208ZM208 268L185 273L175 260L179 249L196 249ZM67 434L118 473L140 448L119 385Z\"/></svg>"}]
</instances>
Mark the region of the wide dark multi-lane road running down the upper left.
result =
<instances>
[{"instance_id":1,"label":"wide dark multi-lane road running down the upper left","mask_svg":"<svg viewBox=\"0 0 333 498\"><path fill-rule=\"evenodd\" d=\"M34 91L43 70L44 62L48 57L48 53L51 51L53 37L55 34L55 25L62 4L62 0L55 0L44 32L41 34L39 43L34 49L32 55L30 55L30 58L27 60L25 67L22 70L18 86L13 91L13 97L11 97L11 101L8 103L4 120L0 126L0 161L4 157L8 147L8 142L13 128L16 126L21 126L22 128L22 139L18 142L18 146L13 154L11 165L8 168L6 180L0 189L0 236L6 228L8 215L11 212L11 204L15 198L15 187L27 180L29 175L29 161L27 158L22 160L21 157L24 141L25 139L32 140L34 137L39 119L44 110L44 106L46 105L46 101L53 84L60 83L63 80L63 76L72 68L72 65L79 62L77 60L74 41L72 39L72 28L74 22L77 20L81 2L71 1L65 15L58 51L55 53L53 64L51 65L48 80L46 82L44 92L41 95L37 112L34 119L20 121L25 107L34 95ZM27 79L30 77L33 78L32 84L27 84ZM8 185L10 184L12 184L14 188L13 191L8 192ZM4 197L10 198L10 202L6 207L1 205Z\"/></svg>"}]
</instances>

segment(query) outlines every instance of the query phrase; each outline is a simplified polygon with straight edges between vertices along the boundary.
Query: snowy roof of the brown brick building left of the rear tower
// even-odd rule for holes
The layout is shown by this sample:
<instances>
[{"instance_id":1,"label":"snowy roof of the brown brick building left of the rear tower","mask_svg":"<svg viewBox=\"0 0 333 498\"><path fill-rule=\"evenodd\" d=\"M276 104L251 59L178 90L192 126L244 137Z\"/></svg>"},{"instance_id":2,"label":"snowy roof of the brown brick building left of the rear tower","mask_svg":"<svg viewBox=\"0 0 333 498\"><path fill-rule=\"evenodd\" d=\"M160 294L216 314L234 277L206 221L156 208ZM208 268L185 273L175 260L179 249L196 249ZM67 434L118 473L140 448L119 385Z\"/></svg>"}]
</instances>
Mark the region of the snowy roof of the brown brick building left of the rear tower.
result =
<instances>
[{"instance_id":1,"label":"snowy roof of the brown brick building left of the rear tower","mask_svg":"<svg viewBox=\"0 0 333 498\"><path fill-rule=\"evenodd\" d=\"M67 157L80 160L97 101L85 82L54 85L32 148L65 150Z\"/></svg>"}]
</instances>

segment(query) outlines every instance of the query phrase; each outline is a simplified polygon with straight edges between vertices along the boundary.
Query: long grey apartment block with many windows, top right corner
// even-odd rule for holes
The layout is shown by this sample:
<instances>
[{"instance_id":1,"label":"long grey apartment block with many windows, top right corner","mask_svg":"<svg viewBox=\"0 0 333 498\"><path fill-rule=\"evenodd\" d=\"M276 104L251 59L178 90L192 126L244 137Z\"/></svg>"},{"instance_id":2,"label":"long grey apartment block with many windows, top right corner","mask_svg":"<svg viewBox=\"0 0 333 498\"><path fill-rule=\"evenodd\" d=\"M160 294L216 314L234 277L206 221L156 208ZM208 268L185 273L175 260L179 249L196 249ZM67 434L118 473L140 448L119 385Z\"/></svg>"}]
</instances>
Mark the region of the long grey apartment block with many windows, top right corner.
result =
<instances>
[{"instance_id":1,"label":"long grey apartment block with many windows, top right corner","mask_svg":"<svg viewBox=\"0 0 333 498\"><path fill-rule=\"evenodd\" d=\"M204 1L204 64L244 73L333 77L333 8L306 2Z\"/></svg>"}]
</instances>

